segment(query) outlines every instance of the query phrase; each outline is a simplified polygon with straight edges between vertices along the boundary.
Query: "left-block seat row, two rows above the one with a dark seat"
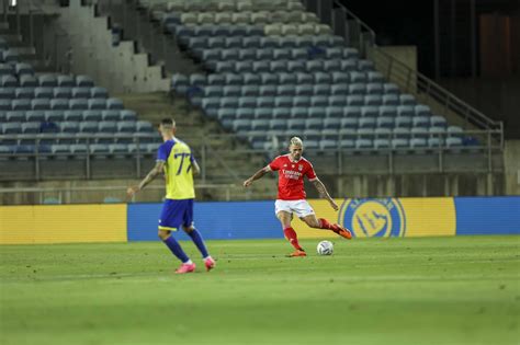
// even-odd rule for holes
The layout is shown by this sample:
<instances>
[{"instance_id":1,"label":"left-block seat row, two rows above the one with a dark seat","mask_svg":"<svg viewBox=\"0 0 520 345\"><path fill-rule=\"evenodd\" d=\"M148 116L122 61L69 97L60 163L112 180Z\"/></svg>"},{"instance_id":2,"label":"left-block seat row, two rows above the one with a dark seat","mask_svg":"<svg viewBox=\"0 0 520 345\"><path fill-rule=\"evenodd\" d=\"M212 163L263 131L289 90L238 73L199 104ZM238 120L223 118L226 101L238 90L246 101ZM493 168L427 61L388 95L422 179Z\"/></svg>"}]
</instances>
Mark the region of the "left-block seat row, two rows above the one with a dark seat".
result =
<instances>
[{"instance_id":1,"label":"left-block seat row, two rows above the one with a dark seat","mask_svg":"<svg viewBox=\"0 0 520 345\"><path fill-rule=\"evenodd\" d=\"M0 100L0 111L122 110L117 99L16 99Z\"/></svg>"}]
</instances>

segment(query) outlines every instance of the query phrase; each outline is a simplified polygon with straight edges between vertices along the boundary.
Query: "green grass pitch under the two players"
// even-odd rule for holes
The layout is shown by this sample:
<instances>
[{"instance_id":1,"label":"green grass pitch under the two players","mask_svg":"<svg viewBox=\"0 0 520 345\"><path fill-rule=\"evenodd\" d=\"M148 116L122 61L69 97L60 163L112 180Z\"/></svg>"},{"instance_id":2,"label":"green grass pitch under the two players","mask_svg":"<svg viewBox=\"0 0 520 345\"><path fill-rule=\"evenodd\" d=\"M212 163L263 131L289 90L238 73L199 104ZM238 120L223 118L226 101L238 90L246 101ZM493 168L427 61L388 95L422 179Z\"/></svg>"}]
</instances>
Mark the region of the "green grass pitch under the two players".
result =
<instances>
[{"instance_id":1,"label":"green grass pitch under the two players","mask_svg":"<svg viewBox=\"0 0 520 345\"><path fill-rule=\"evenodd\" d=\"M1 246L0 344L519 344L520 237Z\"/></svg>"}]
</instances>

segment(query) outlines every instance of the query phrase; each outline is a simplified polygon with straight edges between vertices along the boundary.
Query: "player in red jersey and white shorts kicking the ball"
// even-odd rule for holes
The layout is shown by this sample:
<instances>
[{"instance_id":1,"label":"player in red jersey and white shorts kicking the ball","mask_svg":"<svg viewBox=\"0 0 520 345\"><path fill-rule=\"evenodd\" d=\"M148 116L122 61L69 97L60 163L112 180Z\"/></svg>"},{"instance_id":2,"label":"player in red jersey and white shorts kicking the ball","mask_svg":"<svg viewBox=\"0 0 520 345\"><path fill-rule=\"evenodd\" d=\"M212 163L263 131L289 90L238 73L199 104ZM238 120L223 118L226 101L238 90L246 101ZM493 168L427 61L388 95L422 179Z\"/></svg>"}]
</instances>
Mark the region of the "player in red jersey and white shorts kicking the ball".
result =
<instances>
[{"instance_id":1,"label":"player in red jersey and white shorts kicking the ball","mask_svg":"<svg viewBox=\"0 0 520 345\"><path fill-rule=\"evenodd\" d=\"M321 181L316 176L313 164L302 157L302 139L298 137L291 138L289 154L276 157L271 163L244 182L244 186L248 187L253 181L261 179L267 173L271 171L279 172L278 198L274 204L274 211L282 223L285 238L296 250L289 256L307 256L298 243L296 231L291 227L293 214L296 214L310 228L331 230L349 240L352 238L352 233L346 228L330 223L327 219L316 218L314 209L305 199L304 176L307 176L308 181L318 189L320 197L327 199L335 210L338 210L338 205L330 197Z\"/></svg>"}]
</instances>

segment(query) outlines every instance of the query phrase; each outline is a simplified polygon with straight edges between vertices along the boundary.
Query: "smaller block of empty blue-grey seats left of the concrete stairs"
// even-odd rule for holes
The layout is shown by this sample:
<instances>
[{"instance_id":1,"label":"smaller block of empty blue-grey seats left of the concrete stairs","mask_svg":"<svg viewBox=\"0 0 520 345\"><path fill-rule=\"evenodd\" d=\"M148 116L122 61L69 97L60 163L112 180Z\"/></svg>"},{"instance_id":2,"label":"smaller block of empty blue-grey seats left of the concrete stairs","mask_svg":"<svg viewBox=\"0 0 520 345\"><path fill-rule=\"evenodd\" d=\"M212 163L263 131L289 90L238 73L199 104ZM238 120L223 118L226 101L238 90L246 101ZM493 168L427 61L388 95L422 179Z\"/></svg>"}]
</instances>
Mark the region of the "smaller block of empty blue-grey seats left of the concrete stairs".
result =
<instances>
[{"instance_id":1,"label":"smaller block of empty blue-grey seats left of the concrete stairs","mask_svg":"<svg viewBox=\"0 0 520 345\"><path fill-rule=\"evenodd\" d=\"M0 159L154 153L158 138L151 124L90 77L36 74L0 43Z\"/></svg>"}]
</instances>

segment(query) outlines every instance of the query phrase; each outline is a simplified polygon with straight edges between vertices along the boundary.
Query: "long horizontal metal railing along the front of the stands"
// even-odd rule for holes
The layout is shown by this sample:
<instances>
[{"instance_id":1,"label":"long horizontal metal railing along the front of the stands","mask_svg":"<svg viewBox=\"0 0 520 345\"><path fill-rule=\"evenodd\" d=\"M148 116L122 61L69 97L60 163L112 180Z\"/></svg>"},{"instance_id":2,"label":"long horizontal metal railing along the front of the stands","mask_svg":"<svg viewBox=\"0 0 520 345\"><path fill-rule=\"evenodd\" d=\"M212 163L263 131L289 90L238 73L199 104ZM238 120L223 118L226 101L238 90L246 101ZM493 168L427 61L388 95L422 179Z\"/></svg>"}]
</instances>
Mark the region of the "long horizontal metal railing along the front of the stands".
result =
<instances>
[{"instance_id":1,"label":"long horizontal metal railing along the front of the stands","mask_svg":"<svg viewBox=\"0 0 520 345\"><path fill-rule=\"evenodd\" d=\"M439 133L439 134L429 134L427 131L418 133L418 134L407 134L407 137L414 138L438 138L438 146L430 147L430 146L419 146L419 147L400 147L394 146L394 139L399 139L405 136L405 134L399 134L395 131L387 131L387 133L361 133L361 131L351 131L347 133L344 130L339 131L335 138L334 142L337 146L327 146L327 147L313 147L310 142L318 143L319 139L326 139L323 135L320 138L313 138L310 136L303 136L304 143L309 143L305 151L309 157L328 157L330 160L331 166L335 169L330 169L329 172L331 174L344 174L343 171L343 161L347 157L354 157L357 154L366 156L366 154L375 154L377 157L385 157L387 160L386 170L383 173L393 174L396 172L394 159L397 156L409 154L411 158L417 154L427 154L430 157L437 157L438 164L436 166L430 166L425 170L425 172L444 172L444 158L450 154L461 154L461 153L478 153L481 158L486 159L487 168L485 172L491 173L497 169L494 166L494 156L501 154L501 146L499 142L493 139L495 135L500 134L497 129L489 129L489 130L464 130L463 133ZM446 146L446 139L450 137L459 137L464 139L474 139L472 145L464 145L462 142L460 146ZM104 140L132 140L134 143L134 150L127 152L121 151L103 151L97 152L93 150L93 145L97 142L106 142ZM149 138L157 138L157 135L150 134ZM478 138L475 140L475 138ZM481 139L483 138L483 139ZM53 135L2 135L0 136L1 142L3 147L12 148L12 152L4 152L0 153L0 165L8 164L11 165L13 160L25 160L31 161L34 163L34 179L39 181L42 179L42 165L45 164L47 161L53 161L57 159L64 158L74 158L76 161L84 162L84 177L87 180L92 179L92 162L93 160L101 158L106 159L106 162L117 161L117 158L123 158L125 162L134 161L135 171L128 172L129 175L134 179L140 179L144 174L151 169L152 166L143 166L143 162L148 159L146 162L150 162L152 164L152 159L156 154L155 150L149 150L147 145L144 143L145 136L135 136L134 134L118 134L116 137L111 134L98 134L95 136L88 135L88 134L61 134L59 140L79 140L78 142L82 143L83 146L80 147L78 152L52 152L52 146L49 146L46 140L56 139ZM222 176L226 176L227 181L238 181L244 177L244 174L239 174L237 172L237 166L230 166L228 161L229 158L233 158L234 162L245 162L249 159L248 154L258 156L260 154L268 161L270 158L273 158L282 152L284 152L285 143L287 140L287 133L286 131L270 131L267 134L265 131L247 131L242 134L213 134L213 135L205 135L201 138L186 138L188 142L199 142L200 145L195 147L194 153L199 160L202 170L202 183L206 183L211 181L208 176L208 162L212 161L213 165L217 165L217 169L221 171ZM315 140L316 139L316 140ZM380 146L380 147L355 147L357 139L372 139L375 142L376 139L386 139L388 146ZM29 143L23 146L24 140L31 140ZM227 140L227 141L235 141L239 142L242 141L245 145L239 146L238 148L228 148L228 149L218 149L212 147L212 140ZM265 141L267 140L267 141ZM149 140L145 140L149 142ZM7 146L11 142L12 146ZM26 141L25 141L26 142ZM262 142L262 148L248 148L251 142ZM14 146L16 143L22 143L22 146ZM106 143L109 147L110 145ZM158 147L158 142L152 143ZM240 147L244 147L240 148ZM226 158L225 158L226 157ZM212 166L213 166L212 165ZM239 166L241 168L241 166ZM215 166L213 166L213 170ZM462 166L460 172L470 172L473 171L475 168L472 166ZM248 172L252 173L252 172ZM365 174L376 173L381 174L382 171L371 171L366 169L364 172ZM2 173L0 172L0 181L2 180Z\"/></svg>"}]
</instances>

